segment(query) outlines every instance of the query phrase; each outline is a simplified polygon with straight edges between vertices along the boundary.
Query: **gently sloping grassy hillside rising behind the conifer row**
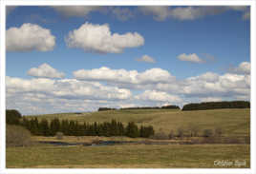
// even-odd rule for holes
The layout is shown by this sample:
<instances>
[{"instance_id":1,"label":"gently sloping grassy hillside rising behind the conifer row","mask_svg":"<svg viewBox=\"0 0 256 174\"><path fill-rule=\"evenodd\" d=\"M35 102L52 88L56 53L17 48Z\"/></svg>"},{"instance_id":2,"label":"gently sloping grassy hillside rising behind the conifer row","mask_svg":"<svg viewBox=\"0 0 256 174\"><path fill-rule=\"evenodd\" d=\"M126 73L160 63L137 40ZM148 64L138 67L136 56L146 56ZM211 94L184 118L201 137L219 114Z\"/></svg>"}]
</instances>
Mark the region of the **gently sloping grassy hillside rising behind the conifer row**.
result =
<instances>
[{"instance_id":1,"label":"gently sloping grassy hillside rising behind the conifer row","mask_svg":"<svg viewBox=\"0 0 256 174\"><path fill-rule=\"evenodd\" d=\"M34 117L34 116L33 116ZM30 116L29 118L32 118ZM136 109L136 110L110 110L92 113L63 113L39 115L40 120L53 118L77 120L83 122L109 122L112 119L122 123L135 122L138 125L154 126L158 131L169 133L171 129L179 127L198 126L200 129L214 129L220 126L225 136L249 136L250 109L212 109L197 111L181 111L177 109Z\"/></svg>"}]
</instances>

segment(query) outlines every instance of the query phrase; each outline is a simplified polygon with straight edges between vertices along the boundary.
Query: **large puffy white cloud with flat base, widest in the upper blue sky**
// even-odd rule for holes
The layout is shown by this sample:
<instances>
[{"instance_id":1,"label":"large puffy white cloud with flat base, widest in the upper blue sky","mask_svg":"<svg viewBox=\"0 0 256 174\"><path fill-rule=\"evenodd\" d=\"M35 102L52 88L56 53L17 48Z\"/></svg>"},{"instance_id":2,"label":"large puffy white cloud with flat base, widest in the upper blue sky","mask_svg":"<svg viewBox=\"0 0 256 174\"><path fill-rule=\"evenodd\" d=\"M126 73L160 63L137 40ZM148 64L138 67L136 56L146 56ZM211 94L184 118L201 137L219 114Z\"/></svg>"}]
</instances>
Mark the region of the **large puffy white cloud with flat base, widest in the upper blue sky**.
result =
<instances>
[{"instance_id":1,"label":"large puffy white cloud with flat base, widest in the upper blue sky","mask_svg":"<svg viewBox=\"0 0 256 174\"><path fill-rule=\"evenodd\" d=\"M69 48L83 48L98 53L121 53L125 48L144 45L144 38L138 32L111 33L109 25L83 24L70 31L65 38Z\"/></svg>"}]
</instances>

